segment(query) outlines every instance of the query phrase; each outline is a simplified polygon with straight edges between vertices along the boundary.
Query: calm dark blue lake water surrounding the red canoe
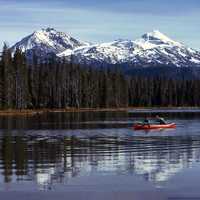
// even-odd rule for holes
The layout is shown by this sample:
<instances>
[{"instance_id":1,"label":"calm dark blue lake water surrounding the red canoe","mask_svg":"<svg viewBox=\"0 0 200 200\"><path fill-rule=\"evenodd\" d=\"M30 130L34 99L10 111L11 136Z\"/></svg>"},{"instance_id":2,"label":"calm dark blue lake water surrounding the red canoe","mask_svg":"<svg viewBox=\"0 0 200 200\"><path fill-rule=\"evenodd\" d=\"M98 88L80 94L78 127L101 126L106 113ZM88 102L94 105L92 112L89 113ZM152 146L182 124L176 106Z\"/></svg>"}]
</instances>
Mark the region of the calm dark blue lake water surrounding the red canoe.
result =
<instances>
[{"instance_id":1,"label":"calm dark blue lake water surrounding the red canoe","mask_svg":"<svg viewBox=\"0 0 200 200\"><path fill-rule=\"evenodd\" d=\"M200 110L0 117L1 191L185 191L200 184ZM155 113L176 129L134 131Z\"/></svg>"}]
</instances>

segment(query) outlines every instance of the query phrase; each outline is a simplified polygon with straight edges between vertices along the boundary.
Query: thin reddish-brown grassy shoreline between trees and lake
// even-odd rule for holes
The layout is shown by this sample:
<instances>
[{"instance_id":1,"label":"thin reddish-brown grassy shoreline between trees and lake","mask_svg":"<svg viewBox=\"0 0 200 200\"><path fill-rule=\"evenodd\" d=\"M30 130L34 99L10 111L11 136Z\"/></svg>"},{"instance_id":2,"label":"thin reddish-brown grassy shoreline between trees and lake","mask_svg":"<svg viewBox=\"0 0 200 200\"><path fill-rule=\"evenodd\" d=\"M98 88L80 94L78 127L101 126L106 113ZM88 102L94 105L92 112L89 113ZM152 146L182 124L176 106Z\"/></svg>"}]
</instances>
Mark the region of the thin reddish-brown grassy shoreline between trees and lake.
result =
<instances>
[{"instance_id":1,"label":"thin reddish-brown grassy shoreline between trees and lake","mask_svg":"<svg viewBox=\"0 0 200 200\"><path fill-rule=\"evenodd\" d=\"M61 112L128 112L129 110L152 110L152 109L177 109L177 110L198 110L200 107L127 107L127 108L65 108L65 109L23 109L23 110L0 110L0 116L32 116L44 113L61 113Z\"/></svg>"}]
</instances>

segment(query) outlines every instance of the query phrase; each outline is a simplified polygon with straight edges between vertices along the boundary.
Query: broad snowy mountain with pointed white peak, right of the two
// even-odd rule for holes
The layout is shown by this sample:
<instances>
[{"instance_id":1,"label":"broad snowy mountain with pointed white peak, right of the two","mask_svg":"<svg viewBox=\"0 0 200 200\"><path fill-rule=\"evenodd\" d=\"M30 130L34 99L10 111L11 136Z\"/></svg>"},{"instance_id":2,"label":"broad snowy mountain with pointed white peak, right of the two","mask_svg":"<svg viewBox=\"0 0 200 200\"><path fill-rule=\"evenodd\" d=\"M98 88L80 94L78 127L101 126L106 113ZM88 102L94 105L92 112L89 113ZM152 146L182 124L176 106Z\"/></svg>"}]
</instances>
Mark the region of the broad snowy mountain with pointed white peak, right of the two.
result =
<instances>
[{"instance_id":1,"label":"broad snowy mountain with pointed white peak, right of the two","mask_svg":"<svg viewBox=\"0 0 200 200\"><path fill-rule=\"evenodd\" d=\"M131 66L194 66L200 64L200 53L173 41L159 31L144 34L140 39L79 47L58 56L73 55L78 63L128 64Z\"/></svg>"}]
</instances>

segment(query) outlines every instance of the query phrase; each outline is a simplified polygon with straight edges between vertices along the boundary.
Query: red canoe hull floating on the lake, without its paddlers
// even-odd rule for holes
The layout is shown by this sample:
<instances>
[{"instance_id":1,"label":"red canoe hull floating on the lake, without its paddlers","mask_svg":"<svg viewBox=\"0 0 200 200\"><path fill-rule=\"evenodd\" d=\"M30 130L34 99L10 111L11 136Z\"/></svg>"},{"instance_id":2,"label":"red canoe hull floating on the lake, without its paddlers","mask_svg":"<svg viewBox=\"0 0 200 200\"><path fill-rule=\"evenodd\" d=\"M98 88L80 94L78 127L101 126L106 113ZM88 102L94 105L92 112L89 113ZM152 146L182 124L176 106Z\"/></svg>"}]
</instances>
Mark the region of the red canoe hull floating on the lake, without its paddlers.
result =
<instances>
[{"instance_id":1,"label":"red canoe hull floating on the lake, without its paddlers","mask_svg":"<svg viewBox=\"0 0 200 200\"><path fill-rule=\"evenodd\" d=\"M150 124L150 125L143 125L143 124L135 124L133 126L135 130L150 130L150 129L162 129L162 128L176 128L175 123L171 124Z\"/></svg>"}]
</instances>

